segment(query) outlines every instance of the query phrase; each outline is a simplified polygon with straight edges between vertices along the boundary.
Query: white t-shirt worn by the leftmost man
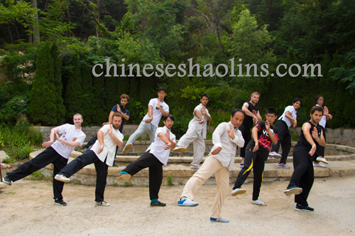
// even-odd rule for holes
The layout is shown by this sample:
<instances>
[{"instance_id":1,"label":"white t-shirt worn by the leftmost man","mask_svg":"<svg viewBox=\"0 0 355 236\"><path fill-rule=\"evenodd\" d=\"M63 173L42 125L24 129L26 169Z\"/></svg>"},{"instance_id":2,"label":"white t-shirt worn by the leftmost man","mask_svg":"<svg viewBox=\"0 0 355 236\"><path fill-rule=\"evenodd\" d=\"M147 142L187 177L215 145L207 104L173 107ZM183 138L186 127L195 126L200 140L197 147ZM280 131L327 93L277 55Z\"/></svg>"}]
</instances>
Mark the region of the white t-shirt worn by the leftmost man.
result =
<instances>
[{"instance_id":1,"label":"white t-shirt worn by the leftmost man","mask_svg":"<svg viewBox=\"0 0 355 236\"><path fill-rule=\"evenodd\" d=\"M84 132L82 132L82 129L75 129L74 124L63 124L59 128L59 134L62 134L60 136L60 139L65 140L65 141L79 141L80 146L82 146L82 143L85 140L86 135ZM52 145L55 151L60 154L60 156L64 157L65 159L68 159L70 156L70 153L74 150L75 146L68 146L65 144L62 144L60 141L56 140Z\"/></svg>"}]
</instances>

